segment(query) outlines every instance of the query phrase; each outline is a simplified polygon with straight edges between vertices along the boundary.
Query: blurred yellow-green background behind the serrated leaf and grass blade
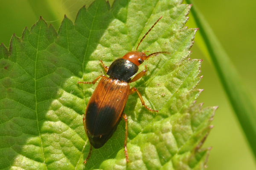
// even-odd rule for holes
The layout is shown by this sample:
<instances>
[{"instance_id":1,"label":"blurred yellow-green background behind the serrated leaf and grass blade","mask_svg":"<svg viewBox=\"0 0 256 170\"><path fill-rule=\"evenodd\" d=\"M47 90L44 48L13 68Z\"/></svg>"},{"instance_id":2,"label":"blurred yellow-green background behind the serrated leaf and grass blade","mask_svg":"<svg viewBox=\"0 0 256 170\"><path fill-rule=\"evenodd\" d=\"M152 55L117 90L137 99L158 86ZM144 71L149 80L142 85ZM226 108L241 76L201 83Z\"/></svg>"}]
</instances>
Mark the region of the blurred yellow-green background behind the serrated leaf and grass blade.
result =
<instances>
[{"instance_id":1,"label":"blurred yellow-green background behind the serrated leaf and grass blade","mask_svg":"<svg viewBox=\"0 0 256 170\"><path fill-rule=\"evenodd\" d=\"M91 0L90 0L91 1ZM256 0L194 0L236 66L248 91L256 99ZM41 15L58 29L64 14L75 20L88 0L0 0L0 43L9 47L12 35L35 24ZM200 31L200 30L199 30ZM256 161L212 64L195 45L191 58L204 59L198 99L204 107L219 106L215 126L204 147L212 146L208 170L256 170ZM256 101L256 100L255 100Z\"/></svg>"}]
</instances>

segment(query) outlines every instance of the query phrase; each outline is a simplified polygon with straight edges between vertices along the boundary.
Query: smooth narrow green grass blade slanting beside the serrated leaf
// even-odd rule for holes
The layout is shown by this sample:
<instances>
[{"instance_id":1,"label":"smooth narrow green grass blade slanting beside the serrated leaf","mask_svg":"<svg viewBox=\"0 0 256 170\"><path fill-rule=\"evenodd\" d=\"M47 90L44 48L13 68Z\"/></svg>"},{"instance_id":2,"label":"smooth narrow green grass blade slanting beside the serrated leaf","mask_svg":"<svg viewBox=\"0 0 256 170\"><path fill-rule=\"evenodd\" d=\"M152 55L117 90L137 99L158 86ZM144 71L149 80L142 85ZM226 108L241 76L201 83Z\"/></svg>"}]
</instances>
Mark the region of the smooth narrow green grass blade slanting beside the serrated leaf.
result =
<instances>
[{"instance_id":1,"label":"smooth narrow green grass blade slanting beside the serrated leaf","mask_svg":"<svg viewBox=\"0 0 256 170\"><path fill-rule=\"evenodd\" d=\"M191 9L196 25L200 28L204 43L207 46L211 61L223 84L227 96L232 104L250 147L256 157L256 108L255 101L249 95L236 68L230 61L227 53L208 25L204 16L198 11L192 0L186 3L193 4ZM202 46L200 46L202 47ZM204 51L204 50L203 50Z\"/></svg>"}]
</instances>

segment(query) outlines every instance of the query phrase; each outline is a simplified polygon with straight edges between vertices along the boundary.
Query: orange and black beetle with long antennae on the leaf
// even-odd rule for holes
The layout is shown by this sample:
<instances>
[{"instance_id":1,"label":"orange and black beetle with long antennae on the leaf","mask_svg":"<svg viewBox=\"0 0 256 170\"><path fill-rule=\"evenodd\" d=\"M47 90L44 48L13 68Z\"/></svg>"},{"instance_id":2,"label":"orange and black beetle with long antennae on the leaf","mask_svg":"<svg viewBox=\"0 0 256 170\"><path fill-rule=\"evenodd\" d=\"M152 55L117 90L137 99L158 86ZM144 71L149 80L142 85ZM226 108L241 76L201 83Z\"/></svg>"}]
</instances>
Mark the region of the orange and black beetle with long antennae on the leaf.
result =
<instances>
[{"instance_id":1,"label":"orange and black beetle with long antennae on the leaf","mask_svg":"<svg viewBox=\"0 0 256 170\"><path fill-rule=\"evenodd\" d=\"M140 43L162 17L151 26L148 32L140 40ZM100 75L92 82L78 82L83 84L95 84L97 80L101 78L87 104L86 112L83 117L84 130L90 141L90 151L87 158L84 160L84 164L86 164L86 161L90 158L92 147L96 149L102 147L116 131L117 125L122 118L125 120L125 158L127 162L129 161L126 147L128 138L128 118L123 110L130 94L137 92L142 105L146 109L158 112L157 110L147 107L140 92L136 87L130 89L129 83L137 81L145 75L147 72L147 65L145 65L145 70L136 75L140 64L145 60L160 53L169 52L154 52L150 55L146 55L144 52L137 52L140 43L135 51L128 52L122 58L116 59L109 67L105 66L102 60L100 60L105 72L109 75L109 78L105 75ZM136 76L132 78L134 75Z\"/></svg>"}]
</instances>

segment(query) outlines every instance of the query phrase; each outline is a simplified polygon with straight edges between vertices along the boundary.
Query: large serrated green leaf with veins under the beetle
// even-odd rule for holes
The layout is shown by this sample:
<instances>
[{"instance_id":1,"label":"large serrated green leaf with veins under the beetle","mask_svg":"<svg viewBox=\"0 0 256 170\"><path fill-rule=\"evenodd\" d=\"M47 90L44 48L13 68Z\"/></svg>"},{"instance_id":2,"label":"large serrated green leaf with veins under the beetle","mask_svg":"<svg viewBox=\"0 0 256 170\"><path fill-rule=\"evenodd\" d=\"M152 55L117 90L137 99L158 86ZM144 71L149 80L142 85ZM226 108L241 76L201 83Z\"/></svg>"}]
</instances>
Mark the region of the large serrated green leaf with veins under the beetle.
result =
<instances>
[{"instance_id":1,"label":"large serrated green leaf with veins under the beetle","mask_svg":"<svg viewBox=\"0 0 256 170\"><path fill-rule=\"evenodd\" d=\"M187 29L190 6L182 0L96 0L83 7L73 24L64 18L58 32L40 20L21 38L12 37L9 50L0 45L0 169L204 169L209 149L201 149L216 107L195 104L202 90L201 60L190 60L197 29ZM155 21L139 51L170 52L150 58L147 75L131 83L128 153L121 121L111 139L84 165L90 144L82 115L106 65L136 48ZM143 64L144 65L144 64ZM140 66L140 70L144 66Z\"/></svg>"}]
</instances>

